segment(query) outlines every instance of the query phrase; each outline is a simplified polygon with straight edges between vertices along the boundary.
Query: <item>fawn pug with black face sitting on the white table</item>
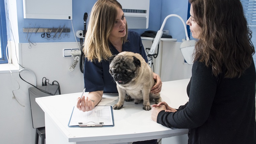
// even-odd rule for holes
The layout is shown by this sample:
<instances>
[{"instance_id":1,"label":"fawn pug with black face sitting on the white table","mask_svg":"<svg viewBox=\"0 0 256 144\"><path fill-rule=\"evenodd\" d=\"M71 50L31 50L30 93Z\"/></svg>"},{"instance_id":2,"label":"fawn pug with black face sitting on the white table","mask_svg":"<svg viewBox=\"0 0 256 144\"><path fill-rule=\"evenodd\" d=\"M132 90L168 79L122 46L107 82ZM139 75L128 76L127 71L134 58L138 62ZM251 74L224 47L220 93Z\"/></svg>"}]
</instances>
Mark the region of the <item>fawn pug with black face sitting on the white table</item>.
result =
<instances>
[{"instance_id":1,"label":"fawn pug with black face sitting on the white table","mask_svg":"<svg viewBox=\"0 0 256 144\"><path fill-rule=\"evenodd\" d=\"M109 73L117 83L119 101L113 106L120 110L125 101L126 94L138 104L143 100L143 110L151 110L150 100L161 102L160 94L150 93L155 85L153 72L140 54L121 52L109 58Z\"/></svg>"}]
</instances>

